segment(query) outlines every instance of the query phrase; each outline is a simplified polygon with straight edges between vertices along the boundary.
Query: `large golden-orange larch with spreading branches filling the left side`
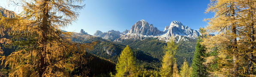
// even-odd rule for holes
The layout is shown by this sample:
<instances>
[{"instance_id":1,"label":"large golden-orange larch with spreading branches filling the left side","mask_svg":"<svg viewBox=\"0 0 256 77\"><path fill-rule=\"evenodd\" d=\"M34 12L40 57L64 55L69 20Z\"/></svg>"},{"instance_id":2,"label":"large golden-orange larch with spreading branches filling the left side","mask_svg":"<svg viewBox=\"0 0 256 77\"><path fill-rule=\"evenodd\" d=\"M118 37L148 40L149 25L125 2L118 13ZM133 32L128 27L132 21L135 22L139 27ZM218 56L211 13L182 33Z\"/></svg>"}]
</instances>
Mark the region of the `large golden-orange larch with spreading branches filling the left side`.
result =
<instances>
[{"instance_id":1,"label":"large golden-orange larch with spreading branches filling the left side","mask_svg":"<svg viewBox=\"0 0 256 77\"><path fill-rule=\"evenodd\" d=\"M90 50L95 42L72 42L72 33L60 30L77 20L76 11L84 7L80 6L81 2L82 0L13 1L23 11L15 18L0 16L0 24L10 29L10 44L18 47L17 51L9 56L1 56L0 59L1 64L11 67L9 76L70 76L70 71L81 65L78 62L86 63L87 59L83 58L85 51Z\"/></svg>"}]
</instances>

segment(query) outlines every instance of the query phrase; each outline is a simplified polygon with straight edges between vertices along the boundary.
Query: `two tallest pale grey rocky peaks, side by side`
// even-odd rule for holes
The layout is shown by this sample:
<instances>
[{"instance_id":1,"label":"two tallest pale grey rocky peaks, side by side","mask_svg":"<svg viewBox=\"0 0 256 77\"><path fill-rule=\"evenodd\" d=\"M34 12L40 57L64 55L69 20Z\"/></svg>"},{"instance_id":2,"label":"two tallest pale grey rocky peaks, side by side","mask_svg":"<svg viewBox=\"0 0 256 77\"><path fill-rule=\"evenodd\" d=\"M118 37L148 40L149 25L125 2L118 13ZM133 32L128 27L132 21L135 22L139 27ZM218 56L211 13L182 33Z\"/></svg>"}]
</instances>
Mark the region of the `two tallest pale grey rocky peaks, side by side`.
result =
<instances>
[{"instance_id":1,"label":"two tallest pale grey rocky peaks, side by side","mask_svg":"<svg viewBox=\"0 0 256 77\"><path fill-rule=\"evenodd\" d=\"M169 41L172 36L175 37L176 41L188 39L196 39L200 33L196 30L192 30L187 26L184 26L180 21L172 21L169 26L165 27L164 31L160 31L153 24L149 24L145 20L137 21L131 28L131 30L125 35L121 36L117 41L122 39L144 39L147 37L158 38L163 41Z\"/></svg>"}]
</instances>

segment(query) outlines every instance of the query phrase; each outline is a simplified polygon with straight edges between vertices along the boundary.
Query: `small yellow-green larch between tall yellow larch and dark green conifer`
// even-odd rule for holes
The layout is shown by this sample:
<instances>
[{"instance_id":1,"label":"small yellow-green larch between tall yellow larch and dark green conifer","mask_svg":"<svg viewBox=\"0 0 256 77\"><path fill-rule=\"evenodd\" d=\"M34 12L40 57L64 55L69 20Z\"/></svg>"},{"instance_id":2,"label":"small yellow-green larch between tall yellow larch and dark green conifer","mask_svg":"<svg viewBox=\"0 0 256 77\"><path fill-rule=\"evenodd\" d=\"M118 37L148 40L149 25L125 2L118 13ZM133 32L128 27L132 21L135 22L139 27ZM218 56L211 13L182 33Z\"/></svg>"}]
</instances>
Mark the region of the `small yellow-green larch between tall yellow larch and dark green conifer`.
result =
<instances>
[{"instance_id":1,"label":"small yellow-green larch between tall yellow larch and dark green conifer","mask_svg":"<svg viewBox=\"0 0 256 77\"><path fill-rule=\"evenodd\" d=\"M190 67L188 66L187 60L184 59L184 62L181 66L180 75L181 77L190 77Z\"/></svg>"}]
</instances>

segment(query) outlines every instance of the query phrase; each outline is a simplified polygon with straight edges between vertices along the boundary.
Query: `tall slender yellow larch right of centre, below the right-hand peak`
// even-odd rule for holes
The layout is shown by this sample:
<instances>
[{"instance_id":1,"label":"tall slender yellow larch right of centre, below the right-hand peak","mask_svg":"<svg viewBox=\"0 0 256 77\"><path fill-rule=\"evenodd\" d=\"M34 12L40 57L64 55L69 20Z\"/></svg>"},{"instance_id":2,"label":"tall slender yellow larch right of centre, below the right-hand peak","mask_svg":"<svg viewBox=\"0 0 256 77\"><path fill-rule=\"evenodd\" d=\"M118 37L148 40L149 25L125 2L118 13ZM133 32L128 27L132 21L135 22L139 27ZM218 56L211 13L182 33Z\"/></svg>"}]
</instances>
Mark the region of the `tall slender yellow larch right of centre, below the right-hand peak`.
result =
<instances>
[{"instance_id":1,"label":"tall slender yellow larch right of centre, below the right-hand peak","mask_svg":"<svg viewBox=\"0 0 256 77\"><path fill-rule=\"evenodd\" d=\"M164 53L162 60L162 67L160 70L160 74L162 77L177 77L178 74L178 68L176 65L176 58L174 57L176 50L178 48L178 45L175 44L174 40L170 40L167 42L167 46L164 47Z\"/></svg>"}]
</instances>

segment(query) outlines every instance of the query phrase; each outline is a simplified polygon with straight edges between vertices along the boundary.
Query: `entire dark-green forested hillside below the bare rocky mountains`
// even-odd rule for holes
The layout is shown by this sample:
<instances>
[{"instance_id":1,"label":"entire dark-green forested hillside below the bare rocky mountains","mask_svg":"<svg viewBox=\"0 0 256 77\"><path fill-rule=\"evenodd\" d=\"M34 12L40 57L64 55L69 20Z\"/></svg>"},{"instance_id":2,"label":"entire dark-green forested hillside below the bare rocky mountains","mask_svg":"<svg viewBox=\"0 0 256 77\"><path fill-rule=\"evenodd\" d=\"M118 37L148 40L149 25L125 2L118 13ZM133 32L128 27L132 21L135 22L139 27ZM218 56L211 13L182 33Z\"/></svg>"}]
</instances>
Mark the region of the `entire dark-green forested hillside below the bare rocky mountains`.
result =
<instances>
[{"instance_id":1,"label":"entire dark-green forested hillside below the bare rocky mountains","mask_svg":"<svg viewBox=\"0 0 256 77\"><path fill-rule=\"evenodd\" d=\"M117 57L120 52L125 45L129 45L135 53L139 65L149 69L160 68L160 61L164 55L163 47L166 45L165 41L160 41L157 38L146 38L143 40L126 39L123 42L112 42L91 35L81 35L81 33L75 33L74 37L75 38L73 38L72 41L79 43L99 41L90 53L109 59L113 62L117 62ZM178 68L181 67L184 59L187 59L187 62L191 65L196 46L196 39L184 38L189 39L190 41L181 40L178 42L179 47L175 55Z\"/></svg>"}]
</instances>

